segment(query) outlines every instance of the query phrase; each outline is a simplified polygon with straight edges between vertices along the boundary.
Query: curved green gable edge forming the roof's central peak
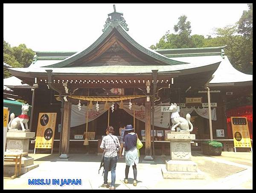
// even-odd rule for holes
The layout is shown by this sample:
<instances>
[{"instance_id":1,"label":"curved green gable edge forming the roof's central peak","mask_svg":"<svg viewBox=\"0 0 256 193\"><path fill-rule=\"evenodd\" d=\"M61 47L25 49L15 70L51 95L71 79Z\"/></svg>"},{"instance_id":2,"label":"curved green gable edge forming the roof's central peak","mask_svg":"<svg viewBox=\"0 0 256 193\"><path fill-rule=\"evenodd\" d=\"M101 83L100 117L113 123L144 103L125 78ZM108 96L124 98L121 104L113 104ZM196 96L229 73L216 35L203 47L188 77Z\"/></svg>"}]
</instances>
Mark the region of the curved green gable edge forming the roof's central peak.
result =
<instances>
[{"instance_id":1,"label":"curved green gable edge forming the roof's central peak","mask_svg":"<svg viewBox=\"0 0 256 193\"><path fill-rule=\"evenodd\" d=\"M147 48L144 48L142 45L140 45L136 41L134 41L125 32L125 30L122 28L122 26L120 26L120 24L118 23L118 25L115 25L115 24L109 25L108 28L104 31L104 33L92 45L90 45L84 51L78 52L78 53L72 55L71 57L69 57L69 58L67 58L65 60L62 60L61 62L52 64L52 65L42 66L42 67L46 67L46 68L62 68L62 67L66 67L71 62L79 60L81 57L89 54L100 43L102 43L102 41L105 40L105 38L111 33L111 31L113 31L114 28L116 28L116 30L122 35L122 37L125 38L125 40L127 40L129 43L134 45L135 48L137 48L139 51L143 52L144 54L147 54L148 56L155 58L156 60L159 60L161 62L165 62L167 65L177 65L177 64L186 64L187 63L187 62L180 62L180 61L177 61L177 60L169 59L168 57L165 57L162 54L155 53L155 51L151 51L151 50L149 50Z\"/></svg>"}]
</instances>

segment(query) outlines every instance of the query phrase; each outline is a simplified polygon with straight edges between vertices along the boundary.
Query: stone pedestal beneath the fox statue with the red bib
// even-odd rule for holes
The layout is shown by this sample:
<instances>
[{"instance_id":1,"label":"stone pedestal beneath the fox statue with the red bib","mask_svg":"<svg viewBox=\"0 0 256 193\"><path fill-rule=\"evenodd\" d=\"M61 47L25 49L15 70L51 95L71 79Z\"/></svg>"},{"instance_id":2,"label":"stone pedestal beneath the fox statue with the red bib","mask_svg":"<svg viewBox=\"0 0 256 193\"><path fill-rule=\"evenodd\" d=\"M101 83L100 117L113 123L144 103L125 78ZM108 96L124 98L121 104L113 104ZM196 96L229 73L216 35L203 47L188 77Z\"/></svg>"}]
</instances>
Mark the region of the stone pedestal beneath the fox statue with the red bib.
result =
<instances>
[{"instance_id":1,"label":"stone pedestal beneath the fox statue with the red bib","mask_svg":"<svg viewBox=\"0 0 256 193\"><path fill-rule=\"evenodd\" d=\"M6 136L6 152L5 155L22 154L21 174L38 167L34 164L34 159L28 156L29 139L35 136L35 132L29 131L8 131ZM14 162L4 162L4 174L14 174Z\"/></svg>"}]
</instances>

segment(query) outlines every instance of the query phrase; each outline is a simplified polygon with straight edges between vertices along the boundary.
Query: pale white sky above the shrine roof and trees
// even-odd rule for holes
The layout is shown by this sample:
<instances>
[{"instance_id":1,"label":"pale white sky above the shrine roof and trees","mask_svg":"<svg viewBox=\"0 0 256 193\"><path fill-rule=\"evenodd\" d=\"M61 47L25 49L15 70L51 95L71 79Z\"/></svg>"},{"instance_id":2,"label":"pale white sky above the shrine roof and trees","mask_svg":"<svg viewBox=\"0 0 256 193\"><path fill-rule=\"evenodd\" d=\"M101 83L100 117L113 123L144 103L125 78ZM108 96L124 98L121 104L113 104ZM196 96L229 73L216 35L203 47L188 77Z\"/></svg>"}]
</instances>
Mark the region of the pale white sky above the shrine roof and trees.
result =
<instances>
[{"instance_id":1,"label":"pale white sky above the shrine roof and trees","mask_svg":"<svg viewBox=\"0 0 256 193\"><path fill-rule=\"evenodd\" d=\"M240 4L3 4L3 39L33 51L82 51L103 33L108 14L122 12L128 34L145 47L155 45L185 14L192 35L213 34L214 28L239 21Z\"/></svg>"}]
</instances>

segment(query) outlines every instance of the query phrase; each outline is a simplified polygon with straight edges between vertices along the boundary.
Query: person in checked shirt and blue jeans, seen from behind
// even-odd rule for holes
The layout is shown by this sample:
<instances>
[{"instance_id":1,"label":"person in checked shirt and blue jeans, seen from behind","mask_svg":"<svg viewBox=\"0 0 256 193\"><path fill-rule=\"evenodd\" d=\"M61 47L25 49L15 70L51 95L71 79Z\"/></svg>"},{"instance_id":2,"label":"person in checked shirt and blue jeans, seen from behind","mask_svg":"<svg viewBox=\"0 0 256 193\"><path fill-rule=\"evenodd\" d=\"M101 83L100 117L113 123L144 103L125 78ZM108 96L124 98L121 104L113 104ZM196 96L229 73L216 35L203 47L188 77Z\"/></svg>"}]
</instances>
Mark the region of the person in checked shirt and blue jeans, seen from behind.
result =
<instances>
[{"instance_id":1,"label":"person in checked shirt and blue jeans, seen from behind","mask_svg":"<svg viewBox=\"0 0 256 193\"><path fill-rule=\"evenodd\" d=\"M104 150L104 187L108 187L108 170L111 169L111 185L109 189L114 190L116 182L116 163L117 151L120 149L120 143L117 136L113 135L114 128L108 126L107 136L103 137L100 148Z\"/></svg>"}]
</instances>

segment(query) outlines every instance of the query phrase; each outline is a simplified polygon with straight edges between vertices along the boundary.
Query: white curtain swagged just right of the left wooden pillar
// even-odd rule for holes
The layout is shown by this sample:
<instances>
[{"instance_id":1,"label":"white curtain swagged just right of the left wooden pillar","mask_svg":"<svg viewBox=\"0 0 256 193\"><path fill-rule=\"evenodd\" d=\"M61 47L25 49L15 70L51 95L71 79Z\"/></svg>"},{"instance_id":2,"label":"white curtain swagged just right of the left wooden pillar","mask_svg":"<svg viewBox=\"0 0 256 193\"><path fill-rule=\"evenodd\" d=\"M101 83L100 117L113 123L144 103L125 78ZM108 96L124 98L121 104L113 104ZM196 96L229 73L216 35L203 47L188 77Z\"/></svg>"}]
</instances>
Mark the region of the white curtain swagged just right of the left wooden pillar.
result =
<instances>
[{"instance_id":1,"label":"white curtain swagged just right of the left wooden pillar","mask_svg":"<svg viewBox=\"0 0 256 193\"><path fill-rule=\"evenodd\" d=\"M99 104L99 111L96 111L96 104L93 105L93 109L89 109L88 113L88 122L97 119L99 116L104 114L106 109L104 109L105 104ZM86 123L86 111L87 106L81 106L81 111L78 111L77 105L71 106L71 120L70 120L70 127L76 127L78 125L83 125Z\"/></svg>"}]
</instances>

